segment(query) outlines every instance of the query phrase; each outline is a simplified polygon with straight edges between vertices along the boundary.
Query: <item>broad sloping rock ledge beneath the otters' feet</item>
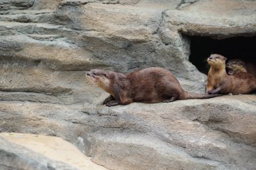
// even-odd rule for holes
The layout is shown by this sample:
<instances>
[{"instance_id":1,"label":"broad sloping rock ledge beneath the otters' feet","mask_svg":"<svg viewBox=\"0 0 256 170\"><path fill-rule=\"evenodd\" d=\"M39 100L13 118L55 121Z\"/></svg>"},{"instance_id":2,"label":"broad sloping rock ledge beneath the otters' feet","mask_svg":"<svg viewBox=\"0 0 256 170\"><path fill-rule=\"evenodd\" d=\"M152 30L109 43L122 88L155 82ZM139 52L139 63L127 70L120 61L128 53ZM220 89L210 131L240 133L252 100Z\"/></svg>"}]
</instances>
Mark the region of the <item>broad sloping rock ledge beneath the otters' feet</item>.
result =
<instances>
[{"instance_id":1,"label":"broad sloping rock ledge beneath the otters' feet","mask_svg":"<svg viewBox=\"0 0 256 170\"><path fill-rule=\"evenodd\" d=\"M253 169L255 95L173 103L2 102L1 131L61 136L108 169ZM91 106L92 107L92 106ZM125 161L124 161L125 160Z\"/></svg>"}]
</instances>

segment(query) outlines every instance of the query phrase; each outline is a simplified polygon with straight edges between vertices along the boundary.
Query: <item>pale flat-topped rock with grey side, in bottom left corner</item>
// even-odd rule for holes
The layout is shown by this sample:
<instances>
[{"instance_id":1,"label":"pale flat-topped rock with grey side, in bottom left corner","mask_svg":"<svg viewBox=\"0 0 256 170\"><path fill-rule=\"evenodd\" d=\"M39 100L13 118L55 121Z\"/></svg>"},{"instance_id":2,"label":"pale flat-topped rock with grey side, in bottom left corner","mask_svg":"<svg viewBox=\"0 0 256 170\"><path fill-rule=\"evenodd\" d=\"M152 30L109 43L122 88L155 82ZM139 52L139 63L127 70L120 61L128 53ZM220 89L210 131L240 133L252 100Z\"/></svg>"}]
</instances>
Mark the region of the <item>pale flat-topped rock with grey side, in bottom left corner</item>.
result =
<instances>
[{"instance_id":1,"label":"pale flat-topped rock with grey side, in bottom left corner","mask_svg":"<svg viewBox=\"0 0 256 170\"><path fill-rule=\"evenodd\" d=\"M106 170L73 144L55 136L0 133L0 143L1 169Z\"/></svg>"}]
</instances>

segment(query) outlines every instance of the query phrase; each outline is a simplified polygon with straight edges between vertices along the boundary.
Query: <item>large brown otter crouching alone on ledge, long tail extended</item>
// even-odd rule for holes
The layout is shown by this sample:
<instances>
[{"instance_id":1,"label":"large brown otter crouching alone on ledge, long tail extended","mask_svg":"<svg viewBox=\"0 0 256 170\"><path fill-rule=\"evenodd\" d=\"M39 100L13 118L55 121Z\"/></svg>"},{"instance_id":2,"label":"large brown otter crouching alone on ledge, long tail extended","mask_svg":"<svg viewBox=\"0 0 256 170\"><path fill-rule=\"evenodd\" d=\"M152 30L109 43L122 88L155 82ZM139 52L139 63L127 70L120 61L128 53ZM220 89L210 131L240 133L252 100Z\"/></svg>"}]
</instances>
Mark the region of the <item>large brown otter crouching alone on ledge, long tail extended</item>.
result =
<instances>
[{"instance_id":1,"label":"large brown otter crouching alone on ledge, long tail extended","mask_svg":"<svg viewBox=\"0 0 256 170\"><path fill-rule=\"evenodd\" d=\"M127 75L113 71L94 69L86 74L110 97L104 100L107 106L129 104L132 102L158 103L177 99L207 99L220 95L195 94L184 91L170 71L150 67L133 71Z\"/></svg>"}]
</instances>

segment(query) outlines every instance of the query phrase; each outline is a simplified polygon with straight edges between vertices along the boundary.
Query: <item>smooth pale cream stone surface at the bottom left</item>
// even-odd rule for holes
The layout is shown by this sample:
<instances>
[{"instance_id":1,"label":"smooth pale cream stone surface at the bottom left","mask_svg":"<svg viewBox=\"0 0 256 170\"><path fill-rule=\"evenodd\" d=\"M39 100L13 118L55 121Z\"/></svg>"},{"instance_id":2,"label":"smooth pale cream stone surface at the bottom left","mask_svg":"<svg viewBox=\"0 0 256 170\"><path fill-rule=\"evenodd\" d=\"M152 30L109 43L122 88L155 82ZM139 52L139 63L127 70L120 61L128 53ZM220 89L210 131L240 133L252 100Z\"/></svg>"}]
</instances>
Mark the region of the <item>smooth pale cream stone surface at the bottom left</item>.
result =
<instances>
[{"instance_id":1,"label":"smooth pale cream stone surface at the bottom left","mask_svg":"<svg viewBox=\"0 0 256 170\"><path fill-rule=\"evenodd\" d=\"M43 136L37 134L18 134L18 133L0 133L0 138L5 138L3 142L14 142L24 146L20 147L20 152L28 150L44 155L52 161L60 161L81 170L104 170L104 167L96 165L90 161L90 158L81 153L75 146L69 142L54 136ZM3 144L5 145L5 144ZM2 148L9 151L9 148ZM2 159L5 159L2 157ZM28 157L28 159L32 159ZM11 159L7 160L11 161ZM6 162L5 162L6 163ZM66 166L65 169L71 168ZM1 166L1 165L0 165ZM12 165L13 166L13 165ZM22 169L23 167L15 167ZM73 168L73 169L75 169ZM59 168L63 169L63 168ZM106 169L105 169L106 170Z\"/></svg>"}]
</instances>

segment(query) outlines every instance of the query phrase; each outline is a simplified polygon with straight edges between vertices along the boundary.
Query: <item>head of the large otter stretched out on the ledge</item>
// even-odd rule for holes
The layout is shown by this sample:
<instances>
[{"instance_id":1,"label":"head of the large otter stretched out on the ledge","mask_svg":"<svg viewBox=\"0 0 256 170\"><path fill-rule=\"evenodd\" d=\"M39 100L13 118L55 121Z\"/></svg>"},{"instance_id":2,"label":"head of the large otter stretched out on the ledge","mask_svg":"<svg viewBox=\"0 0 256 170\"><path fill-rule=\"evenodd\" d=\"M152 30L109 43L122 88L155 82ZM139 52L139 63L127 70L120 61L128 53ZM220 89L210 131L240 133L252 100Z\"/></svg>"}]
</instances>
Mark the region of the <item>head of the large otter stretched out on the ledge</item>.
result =
<instances>
[{"instance_id":1,"label":"head of the large otter stretched out on the ledge","mask_svg":"<svg viewBox=\"0 0 256 170\"><path fill-rule=\"evenodd\" d=\"M100 69L93 69L86 73L86 78L96 83L104 91L111 93L110 91L110 79L108 78L109 71L104 71Z\"/></svg>"}]
</instances>

